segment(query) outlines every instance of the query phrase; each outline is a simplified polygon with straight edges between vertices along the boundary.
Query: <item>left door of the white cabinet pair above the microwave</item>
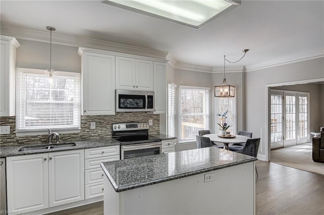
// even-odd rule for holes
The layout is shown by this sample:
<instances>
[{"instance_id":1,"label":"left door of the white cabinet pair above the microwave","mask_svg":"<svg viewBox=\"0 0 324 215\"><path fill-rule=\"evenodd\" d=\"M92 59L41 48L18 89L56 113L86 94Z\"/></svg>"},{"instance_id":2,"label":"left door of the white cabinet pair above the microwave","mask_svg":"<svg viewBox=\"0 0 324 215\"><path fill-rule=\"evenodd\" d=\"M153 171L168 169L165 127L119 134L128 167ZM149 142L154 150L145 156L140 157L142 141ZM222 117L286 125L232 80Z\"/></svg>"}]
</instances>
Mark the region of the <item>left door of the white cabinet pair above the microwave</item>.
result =
<instances>
[{"instance_id":1,"label":"left door of the white cabinet pair above the microwave","mask_svg":"<svg viewBox=\"0 0 324 215\"><path fill-rule=\"evenodd\" d=\"M116 89L135 89L135 59L116 56Z\"/></svg>"}]
</instances>

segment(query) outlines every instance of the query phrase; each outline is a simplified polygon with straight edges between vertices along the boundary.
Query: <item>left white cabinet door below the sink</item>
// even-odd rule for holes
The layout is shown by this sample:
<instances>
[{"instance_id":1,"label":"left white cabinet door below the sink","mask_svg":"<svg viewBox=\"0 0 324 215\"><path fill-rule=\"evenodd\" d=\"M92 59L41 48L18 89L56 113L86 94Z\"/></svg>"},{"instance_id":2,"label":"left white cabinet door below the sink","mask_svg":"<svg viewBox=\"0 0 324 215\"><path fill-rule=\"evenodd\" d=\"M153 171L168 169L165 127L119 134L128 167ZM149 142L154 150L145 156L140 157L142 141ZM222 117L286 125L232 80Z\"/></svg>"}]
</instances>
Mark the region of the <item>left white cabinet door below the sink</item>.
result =
<instances>
[{"instance_id":1,"label":"left white cabinet door below the sink","mask_svg":"<svg viewBox=\"0 0 324 215\"><path fill-rule=\"evenodd\" d=\"M49 207L48 153L7 157L8 211Z\"/></svg>"}]
</instances>

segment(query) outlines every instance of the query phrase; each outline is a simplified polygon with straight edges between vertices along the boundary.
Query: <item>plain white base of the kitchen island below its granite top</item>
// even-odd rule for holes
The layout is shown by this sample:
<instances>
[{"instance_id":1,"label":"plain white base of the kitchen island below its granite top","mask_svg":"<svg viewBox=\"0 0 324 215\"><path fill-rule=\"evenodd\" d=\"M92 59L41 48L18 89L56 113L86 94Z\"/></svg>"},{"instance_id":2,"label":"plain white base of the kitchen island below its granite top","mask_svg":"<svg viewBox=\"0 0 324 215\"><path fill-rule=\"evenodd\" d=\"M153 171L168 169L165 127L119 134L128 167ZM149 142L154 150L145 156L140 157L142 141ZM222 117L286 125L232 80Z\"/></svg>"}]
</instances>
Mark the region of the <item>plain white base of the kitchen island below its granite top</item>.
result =
<instances>
[{"instance_id":1,"label":"plain white base of the kitchen island below its granite top","mask_svg":"<svg viewBox=\"0 0 324 215\"><path fill-rule=\"evenodd\" d=\"M223 160L230 159L226 153L220 151ZM193 161L187 162L194 165L190 163ZM171 165L169 168L172 175L177 167ZM204 182L205 174L213 174L214 181ZM255 214L255 162L123 192L115 192L107 177L104 183L105 215Z\"/></svg>"}]
</instances>

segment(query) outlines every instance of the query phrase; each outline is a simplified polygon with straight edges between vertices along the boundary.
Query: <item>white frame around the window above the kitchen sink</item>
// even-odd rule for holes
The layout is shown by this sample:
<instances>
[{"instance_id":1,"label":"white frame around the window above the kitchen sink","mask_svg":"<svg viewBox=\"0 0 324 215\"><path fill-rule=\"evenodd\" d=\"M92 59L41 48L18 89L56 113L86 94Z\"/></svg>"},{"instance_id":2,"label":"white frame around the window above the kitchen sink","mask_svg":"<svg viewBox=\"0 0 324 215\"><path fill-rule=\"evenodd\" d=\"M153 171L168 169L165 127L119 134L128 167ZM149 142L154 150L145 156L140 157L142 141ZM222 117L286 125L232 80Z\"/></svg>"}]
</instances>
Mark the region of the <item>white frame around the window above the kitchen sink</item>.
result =
<instances>
[{"instance_id":1,"label":"white frame around the window above the kitchen sink","mask_svg":"<svg viewBox=\"0 0 324 215\"><path fill-rule=\"evenodd\" d=\"M45 128L33 128L33 129L19 129L18 128L18 122L19 122L19 106L21 105L21 87L22 83L19 80L21 74L20 73L31 73L31 74L40 74L44 75L46 74L45 70L39 70L39 69L29 69L29 68L16 68L16 119L15 119L15 124L16 124L16 136L27 136L27 135L41 135L41 134L47 134L48 130ZM79 87L78 89L78 98L79 102L77 104L77 109L79 111L78 113L78 121L77 121L77 126L71 126L71 127L56 127L56 128L51 128L49 127L52 131L58 132L58 133L79 133L81 131L81 74L76 73L76 72L63 72L63 71L55 71L53 76L68 76L68 77L74 77L77 78L77 86Z\"/></svg>"}]
</instances>

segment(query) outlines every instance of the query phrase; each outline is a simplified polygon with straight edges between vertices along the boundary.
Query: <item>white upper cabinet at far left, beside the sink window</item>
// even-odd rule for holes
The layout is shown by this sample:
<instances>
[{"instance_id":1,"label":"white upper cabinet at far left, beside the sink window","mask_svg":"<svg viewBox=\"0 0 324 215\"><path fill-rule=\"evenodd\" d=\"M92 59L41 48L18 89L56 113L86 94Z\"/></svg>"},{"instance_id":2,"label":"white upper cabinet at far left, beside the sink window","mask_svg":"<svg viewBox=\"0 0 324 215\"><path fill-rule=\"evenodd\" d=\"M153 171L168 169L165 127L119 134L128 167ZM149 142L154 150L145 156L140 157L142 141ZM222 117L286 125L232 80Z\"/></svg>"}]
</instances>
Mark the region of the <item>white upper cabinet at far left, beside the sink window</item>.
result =
<instances>
[{"instance_id":1,"label":"white upper cabinet at far left, beside the sink window","mask_svg":"<svg viewBox=\"0 0 324 215\"><path fill-rule=\"evenodd\" d=\"M0 37L0 117L15 116L16 48L15 37Z\"/></svg>"}]
</instances>

